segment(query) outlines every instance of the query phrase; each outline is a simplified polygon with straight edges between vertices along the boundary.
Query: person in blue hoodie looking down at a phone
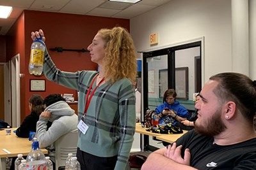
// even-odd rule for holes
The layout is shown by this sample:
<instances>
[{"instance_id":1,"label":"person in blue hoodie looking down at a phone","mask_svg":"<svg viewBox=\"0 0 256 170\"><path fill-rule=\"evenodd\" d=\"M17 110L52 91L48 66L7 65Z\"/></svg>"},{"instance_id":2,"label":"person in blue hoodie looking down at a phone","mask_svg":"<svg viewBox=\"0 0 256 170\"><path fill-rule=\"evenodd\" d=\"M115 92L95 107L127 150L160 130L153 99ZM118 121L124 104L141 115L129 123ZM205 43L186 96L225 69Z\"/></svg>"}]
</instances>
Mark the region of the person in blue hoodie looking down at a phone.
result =
<instances>
[{"instance_id":1,"label":"person in blue hoodie looking down at a phone","mask_svg":"<svg viewBox=\"0 0 256 170\"><path fill-rule=\"evenodd\" d=\"M174 89L168 89L164 92L163 104L156 108L159 124L162 124L164 121L175 125L177 122L187 120L189 117L188 110L179 101L176 101L176 96L177 93Z\"/></svg>"}]
</instances>

